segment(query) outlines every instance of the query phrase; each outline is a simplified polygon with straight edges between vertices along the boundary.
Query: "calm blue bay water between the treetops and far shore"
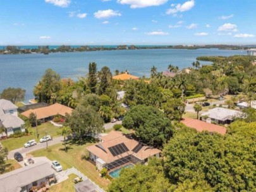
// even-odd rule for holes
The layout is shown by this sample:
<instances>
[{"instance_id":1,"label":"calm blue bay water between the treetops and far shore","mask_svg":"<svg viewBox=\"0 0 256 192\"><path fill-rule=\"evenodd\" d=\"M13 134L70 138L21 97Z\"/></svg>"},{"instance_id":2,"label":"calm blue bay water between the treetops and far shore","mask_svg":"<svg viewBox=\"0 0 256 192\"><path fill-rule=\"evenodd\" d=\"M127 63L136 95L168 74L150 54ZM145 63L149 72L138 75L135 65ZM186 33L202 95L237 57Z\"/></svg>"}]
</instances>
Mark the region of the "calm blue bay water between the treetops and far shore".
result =
<instances>
[{"instance_id":1,"label":"calm blue bay water between the treetops and far shore","mask_svg":"<svg viewBox=\"0 0 256 192\"><path fill-rule=\"evenodd\" d=\"M132 75L149 76L150 68L165 71L168 64L186 68L192 66L198 56L245 55L246 51L219 49L149 49L124 51L93 51L44 54L0 55L0 92L7 87L25 89L27 102L32 99L34 85L47 68L52 68L61 78L85 76L88 63L97 63L97 68L108 66L111 71L130 71Z\"/></svg>"}]
</instances>

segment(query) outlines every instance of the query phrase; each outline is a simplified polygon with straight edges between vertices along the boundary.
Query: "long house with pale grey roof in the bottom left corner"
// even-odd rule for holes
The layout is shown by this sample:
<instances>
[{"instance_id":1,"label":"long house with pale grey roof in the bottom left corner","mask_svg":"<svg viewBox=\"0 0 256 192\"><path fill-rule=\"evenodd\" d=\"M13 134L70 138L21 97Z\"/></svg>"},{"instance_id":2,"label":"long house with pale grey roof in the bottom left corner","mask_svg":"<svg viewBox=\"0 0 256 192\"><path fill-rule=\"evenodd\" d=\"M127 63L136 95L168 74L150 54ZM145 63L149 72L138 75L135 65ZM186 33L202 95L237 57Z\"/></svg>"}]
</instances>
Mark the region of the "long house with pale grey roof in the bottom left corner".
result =
<instances>
[{"instance_id":1,"label":"long house with pale grey roof in the bottom left corner","mask_svg":"<svg viewBox=\"0 0 256 192\"><path fill-rule=\"evenodd\" d=\"M49 178L55 178L54 169L49 162L38 162L0 175L0 191L28 192L32 187L38 188L49 184Z\"/></svg>"}]
</instances>

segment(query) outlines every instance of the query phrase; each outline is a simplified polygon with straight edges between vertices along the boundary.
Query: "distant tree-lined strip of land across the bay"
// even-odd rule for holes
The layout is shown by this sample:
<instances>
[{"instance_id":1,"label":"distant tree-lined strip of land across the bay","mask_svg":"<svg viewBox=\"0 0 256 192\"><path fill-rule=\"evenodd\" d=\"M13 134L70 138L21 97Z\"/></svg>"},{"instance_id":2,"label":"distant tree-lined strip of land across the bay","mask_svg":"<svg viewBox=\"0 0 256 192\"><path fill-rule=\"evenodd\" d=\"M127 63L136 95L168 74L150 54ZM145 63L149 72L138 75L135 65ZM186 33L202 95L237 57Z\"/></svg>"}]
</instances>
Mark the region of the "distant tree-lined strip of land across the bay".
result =
<instances>
[{"instance_id":1,"label":"distant tree-lined strip of land across the bay","mask_svg":"<svg viewBox=\"0 0 256 192\"><path fill-rule=\"evenodd\" d=\"M247 50L253 48L242 47L238 45L105 45L105 46L78 46L61 45L61 46L2 46L0 54L52 54L56 52L89 52L89 51L119 51L119 50L141 50L141 49L221 49L221 50Z\"/></svg>"}]
</instances>

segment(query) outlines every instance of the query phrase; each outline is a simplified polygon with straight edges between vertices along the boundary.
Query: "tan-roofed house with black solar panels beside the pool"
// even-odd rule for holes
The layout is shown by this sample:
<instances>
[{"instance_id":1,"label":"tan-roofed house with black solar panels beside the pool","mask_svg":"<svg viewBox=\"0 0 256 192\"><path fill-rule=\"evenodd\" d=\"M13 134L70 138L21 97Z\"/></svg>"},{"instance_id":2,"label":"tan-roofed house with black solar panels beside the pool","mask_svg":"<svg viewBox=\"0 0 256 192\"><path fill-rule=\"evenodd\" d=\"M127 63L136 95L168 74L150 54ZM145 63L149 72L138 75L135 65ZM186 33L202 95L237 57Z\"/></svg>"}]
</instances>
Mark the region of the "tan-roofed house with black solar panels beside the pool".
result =
<instances>
[{"instance_id":1,"label":"tan-roofed house with black solar panels beside the pool","mask_svg":"<svg viewBox=\"0 0 256 192\"><path fill-rule=\"evenodd\" d=\"M143 145L119 131L111 131L99 139L100 143L87 147L90 160L96 163L99 171L103 167L113 170L128 164L145 164L149 157L159 157L161 153L161 150Z\"/></svg>"}]
</instances>

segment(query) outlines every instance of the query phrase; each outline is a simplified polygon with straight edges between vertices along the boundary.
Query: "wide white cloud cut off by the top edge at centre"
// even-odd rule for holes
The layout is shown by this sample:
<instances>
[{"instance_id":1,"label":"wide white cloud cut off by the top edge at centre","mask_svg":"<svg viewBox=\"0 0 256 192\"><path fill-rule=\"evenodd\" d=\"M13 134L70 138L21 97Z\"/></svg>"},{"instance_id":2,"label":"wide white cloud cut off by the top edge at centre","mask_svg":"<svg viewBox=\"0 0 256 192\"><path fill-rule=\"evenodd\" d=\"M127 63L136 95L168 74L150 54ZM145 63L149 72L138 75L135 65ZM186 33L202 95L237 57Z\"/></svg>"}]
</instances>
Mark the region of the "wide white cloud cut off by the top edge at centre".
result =
<instances>
[{"instance_id":1,"label":"wide white cloud cut off by the top edge at centre","mask_svg":"<svg viewBox=\"0 0 256 192\"><path fill-rule=\"evenodd\" d=\"M132 9L159 6L167 2L168 0L118 0L120 4L130 4L130 8Z\"/></svg>"}]
</instances>

